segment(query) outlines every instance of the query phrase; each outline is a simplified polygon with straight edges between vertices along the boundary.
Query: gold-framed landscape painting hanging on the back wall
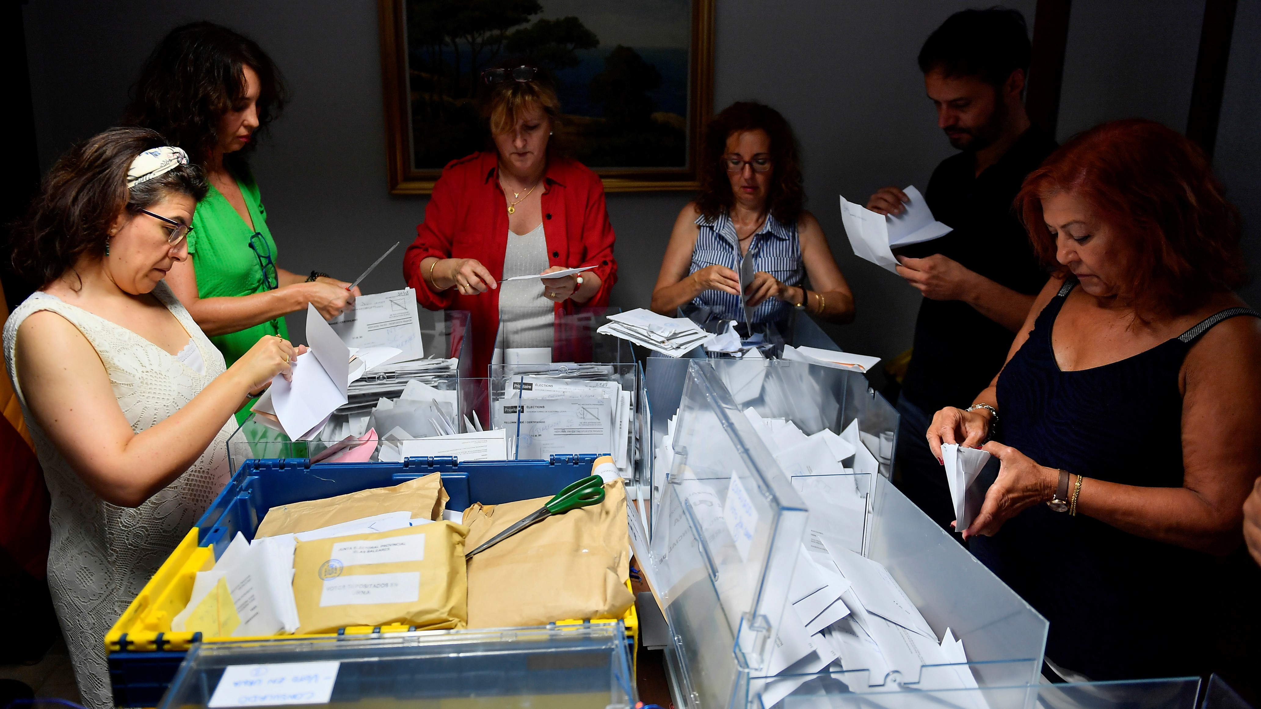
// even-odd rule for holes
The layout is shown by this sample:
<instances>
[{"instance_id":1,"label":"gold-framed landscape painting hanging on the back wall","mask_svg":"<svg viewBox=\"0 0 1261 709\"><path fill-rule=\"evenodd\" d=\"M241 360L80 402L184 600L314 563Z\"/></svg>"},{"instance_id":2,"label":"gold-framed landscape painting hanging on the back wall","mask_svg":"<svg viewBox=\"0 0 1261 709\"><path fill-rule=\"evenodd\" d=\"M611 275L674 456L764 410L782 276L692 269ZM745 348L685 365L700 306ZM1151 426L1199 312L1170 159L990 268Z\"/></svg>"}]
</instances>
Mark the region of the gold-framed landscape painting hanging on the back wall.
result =
<instances>
[{"instance_id":1,"label":"gold-framed landscape painting hanging on the back wall","mask_svg":"<svg viewBox=\"0 0 1261 709\"><path fill-rule=\"evenodd\" d=\"M380 0L390 192L429 194L487 148L482 71L538 67L554 140L609 192L696 189L712 110L714 0Z\"/></svg>"}]
</instances>

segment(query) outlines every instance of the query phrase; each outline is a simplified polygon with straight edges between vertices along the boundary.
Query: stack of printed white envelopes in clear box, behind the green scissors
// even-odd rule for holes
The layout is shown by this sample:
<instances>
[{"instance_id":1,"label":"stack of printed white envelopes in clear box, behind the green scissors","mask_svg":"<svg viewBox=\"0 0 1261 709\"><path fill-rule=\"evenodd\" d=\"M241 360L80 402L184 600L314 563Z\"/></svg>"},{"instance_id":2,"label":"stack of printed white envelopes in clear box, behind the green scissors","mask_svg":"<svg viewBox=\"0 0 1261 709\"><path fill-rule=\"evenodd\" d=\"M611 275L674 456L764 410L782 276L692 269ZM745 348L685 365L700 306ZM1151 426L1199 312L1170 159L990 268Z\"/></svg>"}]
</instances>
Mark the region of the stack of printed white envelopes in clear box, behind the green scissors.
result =
<instances>
[{"instance_id":1,"label":"stack of printed white envelopes in clear box, behind the green scissors","mask_svg":"<svg viewBox=\"0 0 1261 709\"><path fill-rule=\"evenodd\" d=\"M634 392L610 380L516 375L506 396L491 406L491 423L516 442L516 459L546 460L556 454L610 453L623 477L630 474Z\"/></svg>"}]
</instances>

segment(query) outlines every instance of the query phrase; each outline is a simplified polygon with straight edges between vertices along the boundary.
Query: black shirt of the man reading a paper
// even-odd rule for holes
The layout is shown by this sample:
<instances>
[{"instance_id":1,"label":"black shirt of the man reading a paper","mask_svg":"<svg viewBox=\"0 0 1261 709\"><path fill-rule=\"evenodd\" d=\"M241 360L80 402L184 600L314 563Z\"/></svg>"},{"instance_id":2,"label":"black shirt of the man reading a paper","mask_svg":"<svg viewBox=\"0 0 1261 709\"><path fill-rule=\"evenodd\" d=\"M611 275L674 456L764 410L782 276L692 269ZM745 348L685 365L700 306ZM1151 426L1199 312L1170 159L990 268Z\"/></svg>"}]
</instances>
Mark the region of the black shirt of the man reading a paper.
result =
<instances>
[{"instance_id":1,"label":"black shirt of the man reading a paper","mask_svg":"<svg viewBox=\"0 0 1261 709\"><path fill-rule=\"evenodd\" d=\"M1047 283L1047 270L1038 264L1011 203L1025 175L1055 148L1054 139L1030 127L980 175L971 153L942 160L928 180L924 201L933 217L955 231L897 254L913 259L941 254L1016 293L1037 294ZM970 406L1002 368L1014 338L1015 333L962 300L926 298L915 319L903 396L929 416L943 406Z\"/></svg>"}]
</instances>

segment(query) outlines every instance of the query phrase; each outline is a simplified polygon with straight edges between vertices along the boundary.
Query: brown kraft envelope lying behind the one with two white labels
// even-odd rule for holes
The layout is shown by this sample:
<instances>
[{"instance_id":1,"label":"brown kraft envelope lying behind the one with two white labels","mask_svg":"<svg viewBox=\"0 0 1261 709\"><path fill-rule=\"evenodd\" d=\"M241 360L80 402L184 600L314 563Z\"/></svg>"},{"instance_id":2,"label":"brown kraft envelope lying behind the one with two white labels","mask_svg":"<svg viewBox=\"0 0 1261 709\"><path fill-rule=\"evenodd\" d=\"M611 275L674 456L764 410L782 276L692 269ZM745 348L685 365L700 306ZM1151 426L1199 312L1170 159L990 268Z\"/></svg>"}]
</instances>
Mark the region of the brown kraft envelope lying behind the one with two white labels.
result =
<instances>
[{"instance_id":1,"label":"brown kraft envelope lying behind the one with two white labels","mask_svg":"<svg viewBox=\"0 0 1261 709\"><path fill-rule=\"evenodd\" d=\"M441 520L449 498L443 489L441 474L430 473L393 487L375 487L324 500L279 505L267 511L253 536L311 531L404 510L410 511L412 519Z\"/></svg>"}]
</instances>

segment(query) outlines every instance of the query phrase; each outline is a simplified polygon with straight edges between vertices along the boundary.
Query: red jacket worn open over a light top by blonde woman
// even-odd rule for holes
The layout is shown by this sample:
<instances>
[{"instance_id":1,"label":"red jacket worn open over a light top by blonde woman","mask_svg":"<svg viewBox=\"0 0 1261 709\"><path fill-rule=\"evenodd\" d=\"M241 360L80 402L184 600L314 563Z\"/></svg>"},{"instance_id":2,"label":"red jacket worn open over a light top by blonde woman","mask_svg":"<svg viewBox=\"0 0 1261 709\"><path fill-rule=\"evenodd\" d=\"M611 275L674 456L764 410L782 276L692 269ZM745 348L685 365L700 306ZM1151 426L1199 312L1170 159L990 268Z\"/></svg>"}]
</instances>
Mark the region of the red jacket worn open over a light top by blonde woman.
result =
<instances>
[{"instance_id":1,"label":"red jacket worn open over a light top by blonde woman","mask_svg":"<svg viewBox=\"0 0 1261 709\"><path fill-rule=\"evenodd\" d=\"M499 332L499 290L460 295L458 289L434 293L425 283L420 262L439 259L477 259L499 280L503 254L508 247L508 209L498 180L498 155L474 153L443 168L434 196L425 207L425 222L416 227L416 241L407 247L402 269L416 300L430 310L469 310L473 319L473 372L487 376L487 365ZM542 193L543 235L547 264L572 269L595 266L600 290L581 307L609 304L618 280L613 259L613 226L604 207L604 183L576 160L549 158ZM574 310L572 300L556 304L556 312Z\"/></svg>"}]
</instances>

